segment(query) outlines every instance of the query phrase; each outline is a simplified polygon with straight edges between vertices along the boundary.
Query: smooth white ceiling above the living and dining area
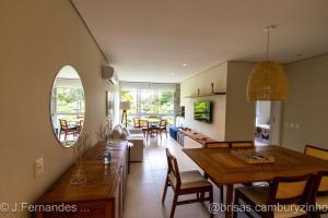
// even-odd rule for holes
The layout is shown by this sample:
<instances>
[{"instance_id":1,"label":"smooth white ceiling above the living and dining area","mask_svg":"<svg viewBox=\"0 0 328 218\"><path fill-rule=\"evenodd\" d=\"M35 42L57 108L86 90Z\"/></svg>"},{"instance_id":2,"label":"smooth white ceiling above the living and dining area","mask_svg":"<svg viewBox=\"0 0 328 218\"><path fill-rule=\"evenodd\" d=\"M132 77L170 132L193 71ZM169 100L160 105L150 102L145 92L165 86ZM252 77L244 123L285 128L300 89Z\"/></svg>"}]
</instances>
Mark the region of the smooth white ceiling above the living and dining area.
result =
<instances>
[{"instance_id":1,"label":"smooth white ceiling above the living and dining area","mask_svg":"<svg viewBox=\"0 0 328 218\"><path fill-rule=\"evenodd\" d=\"M327 0L72 0L122 81L180 82L224 61L328 52ZM187 65L184 65L186 63Z\"/></svg>"}]
</instances>

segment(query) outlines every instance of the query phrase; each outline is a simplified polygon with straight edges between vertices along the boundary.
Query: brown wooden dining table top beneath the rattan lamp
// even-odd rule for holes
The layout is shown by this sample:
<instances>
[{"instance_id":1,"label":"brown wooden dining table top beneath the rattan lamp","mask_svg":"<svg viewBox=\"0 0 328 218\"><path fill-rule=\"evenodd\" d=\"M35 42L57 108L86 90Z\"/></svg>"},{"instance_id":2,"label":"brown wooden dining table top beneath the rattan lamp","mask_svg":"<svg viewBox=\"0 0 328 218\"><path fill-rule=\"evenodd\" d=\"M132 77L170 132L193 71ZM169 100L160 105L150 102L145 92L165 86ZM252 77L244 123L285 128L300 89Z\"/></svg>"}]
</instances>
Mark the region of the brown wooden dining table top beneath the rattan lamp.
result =
<instances>
[{"instance_id":1,"label":"brown wooden dining table top beneath the rattan lamp","mask_svg":"<svg viewBox=\"0 0 328 218\"><path fill-rule=\"evenodd\" d=\"M255 150L274 157L270 164L247 164L231 154L232 148L190 148L183 152L218 184L271 181L328 170L328 161L281 146L256 146Z\"/></svg>"}]
</instances>

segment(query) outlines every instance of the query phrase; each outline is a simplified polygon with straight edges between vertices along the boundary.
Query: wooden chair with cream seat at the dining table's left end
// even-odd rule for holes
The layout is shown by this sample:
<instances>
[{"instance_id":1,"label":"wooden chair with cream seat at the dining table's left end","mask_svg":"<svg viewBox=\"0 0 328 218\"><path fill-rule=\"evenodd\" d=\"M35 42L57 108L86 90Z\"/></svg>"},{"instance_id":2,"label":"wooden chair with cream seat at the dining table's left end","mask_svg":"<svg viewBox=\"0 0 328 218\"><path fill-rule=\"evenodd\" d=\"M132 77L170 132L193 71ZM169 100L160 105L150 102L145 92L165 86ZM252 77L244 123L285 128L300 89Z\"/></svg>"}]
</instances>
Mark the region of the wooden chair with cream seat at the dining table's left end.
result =
<instances>
[{"instance_id":1,"label":"wooden chair with cream seat at the dining table's left end","mask_svg":"<svg viewBox=\"0 0 328 218\"><path fill-rule=\"evenodd\" d=\"M169 218L174 217L175 208L177 205L191 204L197 202L210 201L210 204L213 203L213 186L210 182L204 180L199 171L184 171L179 172L176 158L169 153L166 148L167 157L167 175L162 197L162 203L165 201L167 187L172 186L174 191L174 198L171 209ZM206 193L209 193L209 196L206 197ZM179 195L196 194L196 198L178 201ZM211 214L210 217L213 217Z\"/></svg>"}]
</instances>

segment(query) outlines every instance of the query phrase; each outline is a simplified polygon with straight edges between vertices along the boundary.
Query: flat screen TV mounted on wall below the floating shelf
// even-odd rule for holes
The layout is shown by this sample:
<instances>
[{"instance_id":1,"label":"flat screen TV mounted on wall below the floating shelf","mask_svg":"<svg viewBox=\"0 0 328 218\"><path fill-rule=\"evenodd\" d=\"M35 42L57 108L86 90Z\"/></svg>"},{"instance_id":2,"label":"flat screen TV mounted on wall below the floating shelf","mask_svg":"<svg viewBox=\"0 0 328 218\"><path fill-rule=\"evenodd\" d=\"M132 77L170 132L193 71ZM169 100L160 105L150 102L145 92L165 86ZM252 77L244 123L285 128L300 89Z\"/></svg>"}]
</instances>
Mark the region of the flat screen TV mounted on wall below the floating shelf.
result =
<instances>
[{"instance_id":1,"label":"flat screen TV mounted on wall below the floating shelf","mask_svg":"<svg viewBox=\"0 0 328 218\"><path fill-rule=\"evenodd\" d=\"M202 122L212 122L212 105L209 100L194 102L194 119Z\"/></svg>"}]
</instances>

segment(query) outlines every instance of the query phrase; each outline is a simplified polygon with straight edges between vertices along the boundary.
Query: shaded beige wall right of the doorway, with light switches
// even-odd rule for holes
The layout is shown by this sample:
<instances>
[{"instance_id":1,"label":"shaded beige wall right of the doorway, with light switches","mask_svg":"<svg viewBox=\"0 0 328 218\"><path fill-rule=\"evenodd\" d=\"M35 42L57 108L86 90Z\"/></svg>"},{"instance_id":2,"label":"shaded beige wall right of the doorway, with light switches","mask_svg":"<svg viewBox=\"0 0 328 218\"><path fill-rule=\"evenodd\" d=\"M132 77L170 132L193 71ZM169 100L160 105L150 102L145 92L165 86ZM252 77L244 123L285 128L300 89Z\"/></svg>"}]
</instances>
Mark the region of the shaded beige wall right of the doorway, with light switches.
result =
<instances>
[{"instance_id":1,"label":"shaded beige wall right of the doorway, with light switches","mask_svg":"<svg viewBox=\"0 0 328 218\"><path fill-rule=\"evenodd\" d=\"M282 145L300 152L305 144L328 148L328 55L286 64L285 70L290 88Z\"/></svg>"}]
</instances>

